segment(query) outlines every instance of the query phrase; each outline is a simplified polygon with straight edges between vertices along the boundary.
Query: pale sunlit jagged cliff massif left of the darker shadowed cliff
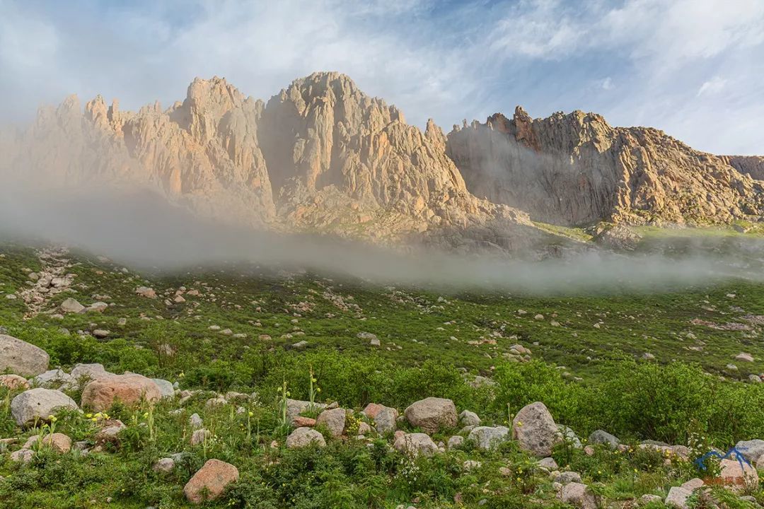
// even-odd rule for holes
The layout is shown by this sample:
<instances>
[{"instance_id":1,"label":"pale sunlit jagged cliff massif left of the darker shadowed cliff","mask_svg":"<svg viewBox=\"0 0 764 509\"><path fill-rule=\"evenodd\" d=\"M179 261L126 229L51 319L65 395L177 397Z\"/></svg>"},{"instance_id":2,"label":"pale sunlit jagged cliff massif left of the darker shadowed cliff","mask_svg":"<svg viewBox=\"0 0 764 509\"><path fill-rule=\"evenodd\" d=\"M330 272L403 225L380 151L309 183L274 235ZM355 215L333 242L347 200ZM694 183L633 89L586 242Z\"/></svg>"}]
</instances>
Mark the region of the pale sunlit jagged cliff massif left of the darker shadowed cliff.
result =
<instances>
[{"instance_id":1,"label":"pale sunlit jagged cliff massif left of the darker shadowed cliff","mask_svg":"<svg viewBox=\"0 0 764 509\"><path fill-rule=\"evenodd\" d=\"M167 109L120 111L100 96L84 112L74 96L43 108L0 137L0 171L54 189L138 185L202 217L277 230L455 247L535 233L527 214L468 192L445 142L432 121L422 133L337 72L297 79L267 105L225 79L195 79Z\"/></svg>"}]
</instances>

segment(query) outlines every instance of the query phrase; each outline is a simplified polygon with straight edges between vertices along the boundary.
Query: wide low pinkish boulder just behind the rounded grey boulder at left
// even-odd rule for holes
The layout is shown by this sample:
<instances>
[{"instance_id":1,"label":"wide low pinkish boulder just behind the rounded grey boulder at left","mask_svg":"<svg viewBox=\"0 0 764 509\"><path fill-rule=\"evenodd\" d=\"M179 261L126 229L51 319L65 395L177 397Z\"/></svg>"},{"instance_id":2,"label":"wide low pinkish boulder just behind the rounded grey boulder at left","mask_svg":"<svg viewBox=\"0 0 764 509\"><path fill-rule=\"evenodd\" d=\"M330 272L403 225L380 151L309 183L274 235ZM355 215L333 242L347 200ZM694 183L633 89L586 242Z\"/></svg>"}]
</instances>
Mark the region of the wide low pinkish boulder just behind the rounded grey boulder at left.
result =
<instances>
[{"instance_id":1,"label":"wide low pinkish boulder just behind the rounded grey boulder at left","mask_svg":"<svg viewBox=\"0 0 764 509\"><path fill-rule=\"evenodd\" d=\"M82 405L83 408L105 411L117 400L134 405L161 398L157 384L143 375L112 375L89 382L83 389Z\"/></svg>"}]
</instances>

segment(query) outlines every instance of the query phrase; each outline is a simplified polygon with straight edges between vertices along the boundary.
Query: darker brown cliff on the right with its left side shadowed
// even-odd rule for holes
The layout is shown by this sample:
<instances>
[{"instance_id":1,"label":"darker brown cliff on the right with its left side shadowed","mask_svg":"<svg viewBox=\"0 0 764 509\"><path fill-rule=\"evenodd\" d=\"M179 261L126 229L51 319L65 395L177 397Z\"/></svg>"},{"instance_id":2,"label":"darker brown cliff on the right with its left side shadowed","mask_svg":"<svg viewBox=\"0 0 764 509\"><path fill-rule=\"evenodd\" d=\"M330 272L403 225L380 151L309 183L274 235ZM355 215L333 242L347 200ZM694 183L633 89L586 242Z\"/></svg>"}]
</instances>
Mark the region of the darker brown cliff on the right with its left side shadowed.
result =
<instances>
[{"instance_id":1,"label":"darker brown cliff on the right with its left side shadowed","mask_svg":"<svg viewBox=\"0 0 764 509\"><path fill-rule=\"evenodd\" d=\"M758 221L764 182L728 159L647 127L610 127L574 111L532 119L516 108L448 134L447 153L481 198L556 224Z\"/></svg>"}]
</instances>

